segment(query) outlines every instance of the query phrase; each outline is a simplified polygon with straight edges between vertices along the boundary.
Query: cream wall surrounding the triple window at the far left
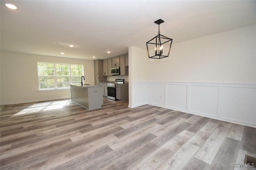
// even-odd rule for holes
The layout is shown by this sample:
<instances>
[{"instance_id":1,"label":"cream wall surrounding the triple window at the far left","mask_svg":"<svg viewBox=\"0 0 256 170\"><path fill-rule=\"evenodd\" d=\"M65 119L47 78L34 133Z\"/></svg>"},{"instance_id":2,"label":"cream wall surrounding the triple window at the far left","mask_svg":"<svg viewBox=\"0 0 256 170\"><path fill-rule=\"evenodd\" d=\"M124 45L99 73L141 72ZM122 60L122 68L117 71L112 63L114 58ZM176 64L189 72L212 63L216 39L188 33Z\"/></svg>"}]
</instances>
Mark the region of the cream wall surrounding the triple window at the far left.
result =
<instances>
[{"instance_id":1,"label":"cream wall surrounding the triple window at the far left","mask_svg":"<svg viewBox=\"0 0 256 170\"><path fill-rule=\"evenodd\" d=\"M85 82L94 84L93 60L1 51L1 105L70 98L70 89L38 91L38 61L82 64Z\"/></svg>"}]
</instances>

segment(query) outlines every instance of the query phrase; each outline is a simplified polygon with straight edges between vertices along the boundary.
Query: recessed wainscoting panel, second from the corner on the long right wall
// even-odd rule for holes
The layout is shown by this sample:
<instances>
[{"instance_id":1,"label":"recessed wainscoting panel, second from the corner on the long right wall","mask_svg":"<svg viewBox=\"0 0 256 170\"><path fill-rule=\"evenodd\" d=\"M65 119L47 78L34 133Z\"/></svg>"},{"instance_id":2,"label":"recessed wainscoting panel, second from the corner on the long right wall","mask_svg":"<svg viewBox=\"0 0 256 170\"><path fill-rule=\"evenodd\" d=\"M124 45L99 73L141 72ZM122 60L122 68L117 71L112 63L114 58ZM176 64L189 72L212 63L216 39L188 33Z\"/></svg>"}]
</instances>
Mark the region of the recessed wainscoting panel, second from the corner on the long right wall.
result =
<instances>
[{"instance_id":1,"label":"recessed wainscoting panel, second from the corner on the long right wall","mask_svg":"<svg viewBox=\"0 0 256 170\"><path fill-rule=\"evenodd\" d=\"M186 110L188 85L167 84L166 106Z\"/></svg>"}]
</instances>

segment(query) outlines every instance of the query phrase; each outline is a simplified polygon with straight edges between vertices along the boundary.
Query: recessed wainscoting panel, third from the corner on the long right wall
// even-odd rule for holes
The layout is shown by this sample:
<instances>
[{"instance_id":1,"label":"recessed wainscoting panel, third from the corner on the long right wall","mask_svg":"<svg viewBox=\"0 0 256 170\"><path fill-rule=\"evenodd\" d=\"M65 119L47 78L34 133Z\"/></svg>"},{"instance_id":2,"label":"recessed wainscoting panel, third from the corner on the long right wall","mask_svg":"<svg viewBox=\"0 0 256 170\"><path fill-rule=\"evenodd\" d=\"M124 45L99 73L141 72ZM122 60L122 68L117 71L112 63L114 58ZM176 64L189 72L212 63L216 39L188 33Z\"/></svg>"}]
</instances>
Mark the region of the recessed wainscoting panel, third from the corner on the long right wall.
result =
<instances>
[{"instance_id":1,"label":"recessed wainscoting panel, third from the corner on the long right wall","mask_svg":"<svg viewBox=\"0 0 256 170\"><path fill-rule=\"evenodd\" d=\"M219 87L191 85L189 111L217 116Z\"/></svg>"}]
</instances>

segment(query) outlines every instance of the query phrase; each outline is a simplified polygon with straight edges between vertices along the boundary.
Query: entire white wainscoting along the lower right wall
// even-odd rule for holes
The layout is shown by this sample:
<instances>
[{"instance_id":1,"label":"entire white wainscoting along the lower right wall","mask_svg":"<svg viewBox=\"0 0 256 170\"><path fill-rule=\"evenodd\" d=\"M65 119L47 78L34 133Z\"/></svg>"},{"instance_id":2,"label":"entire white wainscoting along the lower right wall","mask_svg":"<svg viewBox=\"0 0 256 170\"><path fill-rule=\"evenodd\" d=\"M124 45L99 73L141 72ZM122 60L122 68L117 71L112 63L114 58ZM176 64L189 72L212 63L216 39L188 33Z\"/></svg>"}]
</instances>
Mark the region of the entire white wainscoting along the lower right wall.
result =
<instances>
[{"instance_id":1,"label":"entire white wainscoting along the lower right wall","mask_svg":"<svg viewBox=\"0 0 256 170\"><path fill-rule=\"evenodd\" d=\"M256 85L133 82L132 105L154 105L256 127Z\"/></svg>"}]
</instances>

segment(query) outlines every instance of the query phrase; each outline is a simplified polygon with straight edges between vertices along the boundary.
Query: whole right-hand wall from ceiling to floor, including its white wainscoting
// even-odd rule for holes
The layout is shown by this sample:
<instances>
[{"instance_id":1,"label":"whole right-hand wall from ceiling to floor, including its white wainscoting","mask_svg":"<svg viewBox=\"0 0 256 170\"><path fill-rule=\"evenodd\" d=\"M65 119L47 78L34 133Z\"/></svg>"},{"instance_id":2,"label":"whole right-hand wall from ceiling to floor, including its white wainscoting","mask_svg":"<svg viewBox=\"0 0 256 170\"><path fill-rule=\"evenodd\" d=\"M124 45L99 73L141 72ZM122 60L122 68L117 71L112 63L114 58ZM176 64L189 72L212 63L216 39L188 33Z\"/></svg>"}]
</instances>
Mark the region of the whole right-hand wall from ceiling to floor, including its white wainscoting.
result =
<instances>
[{"instance_id":1,"label":"whole right-hand wall from ceiling to floor, including its white wainscoting","mask_svg":"<svg viewBox=\"0 0 256 170\"><path fill-rule=\"evenodd\" d=\"M129 107L150 104L256 127L256 25L174 43L160 60L129 47L130 58L137 63ZM141 65L145 78L133 74Z\"/></svg>"}]
</instances>

